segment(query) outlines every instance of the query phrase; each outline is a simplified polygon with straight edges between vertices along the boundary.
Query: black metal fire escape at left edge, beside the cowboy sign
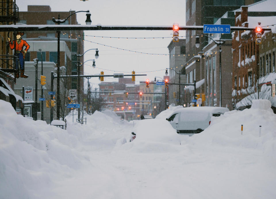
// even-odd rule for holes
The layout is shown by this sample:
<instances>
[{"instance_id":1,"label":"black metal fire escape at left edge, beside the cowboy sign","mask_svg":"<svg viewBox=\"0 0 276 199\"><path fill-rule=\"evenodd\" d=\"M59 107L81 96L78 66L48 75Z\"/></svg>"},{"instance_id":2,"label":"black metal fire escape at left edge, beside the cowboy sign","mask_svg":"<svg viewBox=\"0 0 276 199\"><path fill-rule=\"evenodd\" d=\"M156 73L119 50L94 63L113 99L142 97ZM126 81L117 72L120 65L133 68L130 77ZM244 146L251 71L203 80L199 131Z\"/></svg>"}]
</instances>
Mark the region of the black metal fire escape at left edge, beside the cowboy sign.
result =
<instances>
[{"instance_id":1,"label":"black metal fire escape at left edge, beside the cowboy sign","mask_svg":"<svg viewBox=\"0 0 276 199\"><path fill-rule=\"evenodd\" d=\"M0 2L0 25L7 24L16 24L19 20L19 10L15 2L12 1L1 1ZM5 33L7 37L11 37L12 41L12 32ZM10 35L11 34L11 35ZM14 35L16 33L14 32ZM18 57L10 55L9 44L6 39L6 49L4 50L2 46L2 53L0 54L0 77L3 79L10 78L10 76L16 72L19 72L15 69L15 63L18 62ZM6 53L4 54L4 51ZM16 83L16 78L14 78L14 83Z\"/></svg>"}]
</instances>

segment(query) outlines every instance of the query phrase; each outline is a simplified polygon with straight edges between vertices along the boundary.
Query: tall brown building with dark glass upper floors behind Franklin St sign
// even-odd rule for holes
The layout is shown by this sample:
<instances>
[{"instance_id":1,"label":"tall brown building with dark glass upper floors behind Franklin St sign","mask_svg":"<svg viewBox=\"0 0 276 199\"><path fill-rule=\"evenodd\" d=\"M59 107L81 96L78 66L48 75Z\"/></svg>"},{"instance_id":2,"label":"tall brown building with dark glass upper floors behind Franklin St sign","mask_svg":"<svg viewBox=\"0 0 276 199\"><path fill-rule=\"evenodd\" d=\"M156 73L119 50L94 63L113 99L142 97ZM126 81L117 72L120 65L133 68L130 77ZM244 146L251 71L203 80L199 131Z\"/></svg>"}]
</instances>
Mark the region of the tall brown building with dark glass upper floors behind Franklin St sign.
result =
<instances>
[{"instance_id":1,"label":"tall brown building with dark glass upper floors behind Franklin St sign","mask_svg":"<svg viewBox=\"0 0 276 199\"><path fill-rule=\"evenodd\" d=\"M186 0L186 25L187 26L203 26L204 24L214 24L227 11L239 9L242 5L254 3L254 0ZM200 46L196 48L196 35L202 35L202 30L186 31L186 60L185 69L187 83L202 82L206 77L206 66L202 63L204 56L204 47L209 43L208 37L200 37ZM210 50L210 49L209 49ZM205 62L205 61L204 61ZM196 86L196 93L191 92L192 100L194 94L206 94L204 88L206 84ZM212 103L214 104L214 103ZM205 104L210 106L209 104ZM225 106L225 104L224 104Z\"/></svg>"}]
</instances>

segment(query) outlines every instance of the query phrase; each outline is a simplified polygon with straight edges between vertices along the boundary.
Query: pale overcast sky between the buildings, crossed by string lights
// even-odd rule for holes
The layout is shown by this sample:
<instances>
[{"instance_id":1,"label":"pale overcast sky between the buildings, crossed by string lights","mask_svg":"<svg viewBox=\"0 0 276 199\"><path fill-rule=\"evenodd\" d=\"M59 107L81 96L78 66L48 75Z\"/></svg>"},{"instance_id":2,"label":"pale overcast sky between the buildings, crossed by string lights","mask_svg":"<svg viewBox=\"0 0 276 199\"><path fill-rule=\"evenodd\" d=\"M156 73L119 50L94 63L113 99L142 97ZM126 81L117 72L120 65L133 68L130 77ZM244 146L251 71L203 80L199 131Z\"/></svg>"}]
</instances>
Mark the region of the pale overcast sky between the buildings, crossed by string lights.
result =
<instances>
[{"instance_id":1,"label":"pale overcast sky between the buildings, crossed by string lights","mask_svg":"<svg viewBox=\"0 0 276 199\"><path fill-rule=\"evenodd\" d=\"M113 0L113 1L80 1L80 0L16 0L19 11L27 11L27 5L50 5L52 11L81 11L89 9L91 12L92 25L160 25L172 26L178 23L179 26L185 25L185 0L164 1L164 0ZM57 16L53 16L57 18ZM85 24L85 13L77 13L79 24ZM129 52L129 50L153 53L168 54L168 44L171 38L155 38L155 39L123 39L122 37L171 37L172 31L85 31L84 45L85 50L90 48L99 49L99 58L96 60L96 68L93 69L92 61L85 64L85 74L99 74L104 71L105 75L114 73L131 74L147 74L147 76L136 77L136 84L145 79L154 80L154 77L163 77L165 71L157 71L169 67L169 56L163 55L146 55L141 53ZM121 37L118 38L101 38L92 36ZM179 32L179 36L185 36L184 31ZM91 42L103 45L97 45ZM112 46L115 48L110 48ZM122 48L126 50L117 50ZM95 59L95 51L88 51L84 55L84 61ZM148 72L154 71L154 72ZM157 72L156 72L157 71ZM129 73L127 73L129 72ZM143 73L138 73L143 72ZM148 72L148 73L146 73ZM114 78L105 78L105 81L118 81ZM100 83L98 78L91 78L90 82L93 87Z\"/></svg>"}]
</instances>

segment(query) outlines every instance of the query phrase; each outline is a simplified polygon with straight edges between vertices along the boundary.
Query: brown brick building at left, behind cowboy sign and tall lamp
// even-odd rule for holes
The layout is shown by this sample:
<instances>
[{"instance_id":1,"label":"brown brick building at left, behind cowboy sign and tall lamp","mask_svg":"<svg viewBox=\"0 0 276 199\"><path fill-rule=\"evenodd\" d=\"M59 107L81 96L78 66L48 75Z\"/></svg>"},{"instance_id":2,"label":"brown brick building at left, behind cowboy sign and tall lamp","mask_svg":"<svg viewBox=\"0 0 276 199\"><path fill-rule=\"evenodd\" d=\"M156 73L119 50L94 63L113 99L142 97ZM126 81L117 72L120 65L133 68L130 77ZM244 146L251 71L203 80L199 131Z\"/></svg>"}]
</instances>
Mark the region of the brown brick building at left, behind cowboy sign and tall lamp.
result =
<instances>
[{"instance_id":1,"label":"brown brick building at left, behind cowboy sign and tall lamp","mask_svg":"<svg viewBox=\"0 0 276 199\"><path fill-rule=\"evenodd\" d=\"M61 19L66 19L69 15L74 13L75 11L68 12L52 12L51 7L49 5L28 5L28 11L19 12L19 18L21 24L27 25L38 25L38 24L47 24L47 25L55 25L52 21L52 18L58 18L60 15ZM71 25L78 24L76 20L76 14L70 16L63 25ZM83 54L84 46L83 46L83 31L68 31L62 32L60 34L61 48L64 46L64 50L60 50L60 66L66 67L66 73L68 75L77 75L77 57L75 54ZM32 31L25 32L24 36L27 41L45 41L49 42L49 46L51 46L51 51L48 51L47 44L42 44L41 48L43 54L43 61L52 61L55 64L57 63L57 33L55 31ZM54 42L51 42L54 41ZM63 43L62 43L63 42ZM67 50L65 50L67 48ZM68 53L68 50L70 53ZM39 56L40 52L30 51L26 55L26 61L32 61L34 58L41 59ZM83 57L80 57L80 61L83 62ZM80 67L81 75L83 75L83 65ZM81 79L81 85L83 85L83 79ZM71 87L72 89L77 88L77 78L71 79ZM70 89L69 88L69 89ZM82 91L83 92L83 91Z\"/></svg>"}]
</instances>

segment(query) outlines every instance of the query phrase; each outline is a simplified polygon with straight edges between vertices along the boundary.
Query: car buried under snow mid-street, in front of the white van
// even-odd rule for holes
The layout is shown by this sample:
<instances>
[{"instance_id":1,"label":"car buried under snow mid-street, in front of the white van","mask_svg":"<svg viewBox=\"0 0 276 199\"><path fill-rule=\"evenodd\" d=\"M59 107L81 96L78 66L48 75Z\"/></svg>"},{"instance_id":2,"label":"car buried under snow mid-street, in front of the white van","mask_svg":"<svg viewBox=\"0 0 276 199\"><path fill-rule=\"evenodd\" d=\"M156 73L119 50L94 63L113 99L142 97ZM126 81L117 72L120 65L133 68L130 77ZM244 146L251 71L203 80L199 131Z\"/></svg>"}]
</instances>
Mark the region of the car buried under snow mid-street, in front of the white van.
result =
<instances>
[{"instance_id":1,"label":"car buried under snow mid-street, in front of the white van","mask_svg":"<svg viewBox=\"0 0 276 199\"><path fill-rule=\"evenodd\" d=\"M177 131L168 121L162 119L137 121L131 132L130 142L132 141L181 144Z\"/></svg>"}]
</instances>

